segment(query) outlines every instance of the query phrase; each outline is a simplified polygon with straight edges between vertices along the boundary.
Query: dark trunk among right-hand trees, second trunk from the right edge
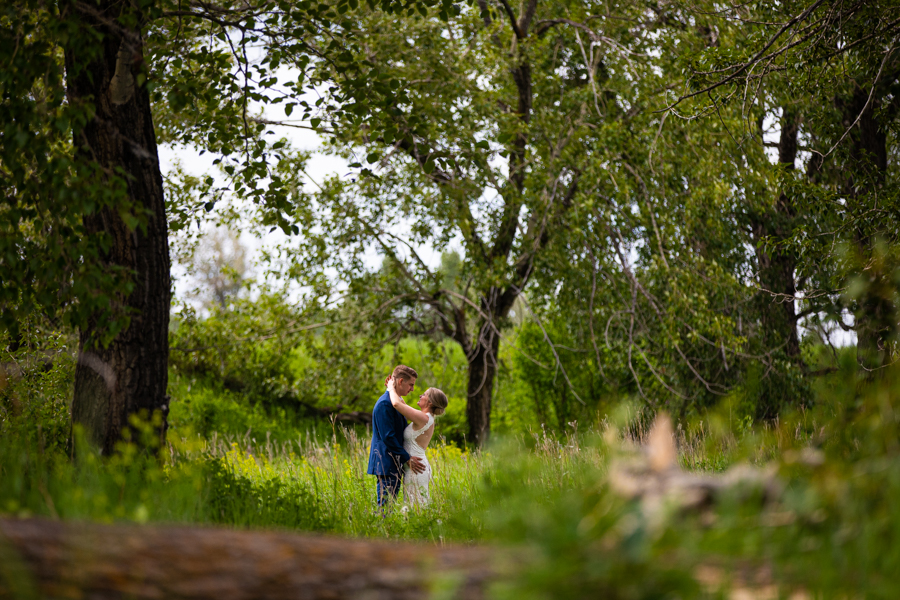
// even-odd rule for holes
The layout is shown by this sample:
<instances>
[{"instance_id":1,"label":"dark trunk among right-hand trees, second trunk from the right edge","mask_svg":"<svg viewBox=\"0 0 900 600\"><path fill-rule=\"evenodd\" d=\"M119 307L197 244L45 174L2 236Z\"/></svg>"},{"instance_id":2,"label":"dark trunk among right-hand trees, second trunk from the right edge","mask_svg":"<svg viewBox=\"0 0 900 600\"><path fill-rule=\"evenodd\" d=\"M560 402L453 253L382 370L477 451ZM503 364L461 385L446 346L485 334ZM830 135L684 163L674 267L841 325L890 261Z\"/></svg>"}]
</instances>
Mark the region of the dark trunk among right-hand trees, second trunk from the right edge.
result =
<instances>
[{"instance_id":1,"label":"dark trunk among right-hand trees, second trunk from the right edge","mask_svg":"<svg viewBox=\"0 0 900 600\"><path fill-rule=\"evenodd\" d=\"M797 133L799 116L783 109L781 117L781 138L778 143L778 162L783 168L793 171L797 159ZM794 272L796 257L783 249L766 251L766 238L779 242L791 236L791 220L794 217L793 202L783 191L779 193L774 207L764 213L753 224L756 239L756 260L759 268L761 296L761 324L766 349L783 350L790 361L800 358L800 339L797 336L797 313L793 298L797 294Z\"/></svg>"}]
</instances>

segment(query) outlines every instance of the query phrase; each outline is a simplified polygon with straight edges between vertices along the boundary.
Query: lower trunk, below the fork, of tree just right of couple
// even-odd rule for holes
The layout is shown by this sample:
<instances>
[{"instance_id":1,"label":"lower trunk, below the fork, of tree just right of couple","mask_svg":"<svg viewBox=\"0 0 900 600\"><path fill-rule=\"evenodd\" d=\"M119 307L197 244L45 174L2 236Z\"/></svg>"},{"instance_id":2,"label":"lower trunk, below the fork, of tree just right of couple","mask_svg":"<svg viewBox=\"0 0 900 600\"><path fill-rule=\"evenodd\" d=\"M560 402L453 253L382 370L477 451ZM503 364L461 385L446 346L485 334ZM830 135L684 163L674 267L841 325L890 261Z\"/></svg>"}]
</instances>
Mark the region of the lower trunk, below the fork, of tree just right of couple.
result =
<instances>
[{"instance_id":1,"label":"lower trunk, below the fork, of tree just right of couple","mask_svg":"<svg viewBox=\"0 0 900 600\"><path fill-rule=\"evenodd\" d=\"M484 323L469 359L469 385L466 418L469 439L483 446L491 433L491 398L497 375L500 337L490 323Z\"/></svg>"}]
</instances>

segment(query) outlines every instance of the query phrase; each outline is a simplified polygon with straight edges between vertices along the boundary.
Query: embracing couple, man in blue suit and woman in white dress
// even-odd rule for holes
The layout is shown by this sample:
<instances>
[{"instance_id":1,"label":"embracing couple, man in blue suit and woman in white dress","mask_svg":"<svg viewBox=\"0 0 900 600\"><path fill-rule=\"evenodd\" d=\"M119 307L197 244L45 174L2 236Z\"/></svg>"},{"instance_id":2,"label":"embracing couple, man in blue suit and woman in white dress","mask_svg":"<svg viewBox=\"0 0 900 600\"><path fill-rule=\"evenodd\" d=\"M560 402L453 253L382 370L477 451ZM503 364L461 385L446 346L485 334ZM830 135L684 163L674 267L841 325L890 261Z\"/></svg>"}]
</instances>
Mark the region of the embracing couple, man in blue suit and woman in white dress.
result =
<instances>
[{"instance_id":1,"label":"embracing couple, man in blue suit and woman in white dress","mask_svg":"<svg viewBox=\"0 0 900 600\"><path fill-rule=\"evenodd\" d=\"M412 392L417 378L410 367L397 366L385 379L387 391L372 410L368 473L378 478L378 506L382 508L397 497L401 483L407 502L424 506L430 499L431 465L425 448L434 435L434 418L444 414L448 400L441 390L428 388L419 397L422 410L408 406L403 396ZM406 419L411 423L407 425Z\"/></svg>"}]
</instances>

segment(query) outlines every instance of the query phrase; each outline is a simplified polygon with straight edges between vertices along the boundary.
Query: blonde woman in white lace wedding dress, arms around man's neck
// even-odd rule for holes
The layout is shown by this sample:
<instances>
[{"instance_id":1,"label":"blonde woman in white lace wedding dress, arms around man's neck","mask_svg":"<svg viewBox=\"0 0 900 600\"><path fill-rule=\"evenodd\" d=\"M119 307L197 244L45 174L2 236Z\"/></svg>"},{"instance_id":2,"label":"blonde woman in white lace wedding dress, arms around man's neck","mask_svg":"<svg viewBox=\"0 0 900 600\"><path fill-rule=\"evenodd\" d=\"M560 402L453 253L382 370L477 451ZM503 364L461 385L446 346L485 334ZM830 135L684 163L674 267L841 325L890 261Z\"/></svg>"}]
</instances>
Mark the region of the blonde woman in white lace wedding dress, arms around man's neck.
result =
<instances>
[{"instance_id":1,"label":"blonde woman in white lace wedding dress, arms around man's neck","mask_svg":"<svg viewBox=\"0 0 900 600\"><path fill-rule=\"evenodd\" d=\"M403 430L403 449L425 463L425 471L422 473L413 472L408 463L404 466L403 491L410 504L424 506L430 500L428 483L431 481L431 465L425 456L425 448L434 435L434 418L444 414L447 409L447 395L437 388L428 388L417 402L422 410L416 410L407 405L395 391L393 377L388 380L388 391L391 394L391 404L397 412L412 421Z\"/></svg>"}]
</instances>

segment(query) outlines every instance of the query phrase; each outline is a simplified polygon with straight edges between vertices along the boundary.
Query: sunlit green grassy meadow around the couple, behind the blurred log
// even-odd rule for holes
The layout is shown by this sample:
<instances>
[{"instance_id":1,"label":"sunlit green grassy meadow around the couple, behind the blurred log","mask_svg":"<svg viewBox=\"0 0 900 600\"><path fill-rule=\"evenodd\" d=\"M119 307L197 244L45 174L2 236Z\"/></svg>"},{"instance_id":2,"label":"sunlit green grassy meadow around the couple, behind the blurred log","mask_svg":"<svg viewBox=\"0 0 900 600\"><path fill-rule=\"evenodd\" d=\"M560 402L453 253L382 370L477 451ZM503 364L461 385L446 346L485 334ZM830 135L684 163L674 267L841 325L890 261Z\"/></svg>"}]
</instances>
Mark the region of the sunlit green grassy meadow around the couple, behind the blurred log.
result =
<instances>
[{"instance_id":1,"label":"sunlit green grassy meadow around the couple, behind the blurred log","mask_svg":"<svg viewBox=\"0 0 900 600\"><path fill-rule=\"evenodd\" d=\"M497 598L900 591L896 374L866 386L850 365L814 387L809 408L778 423L736 419L723 403L677 428L679 473L751 468L772 484L726 486L702 505L686 509L669 495L651 506L611 483L616 468L646 459L651 421L623 401L564 431L497 434L483 450L436 436L432 504L417 509L401 498L382 514L365 474L365 427L272 412L183 373L172 373L178 400L164 447L126 443L102 457L78 432L70 445L71 363L56 356L53 368L23 371L4 388L5 516L487 544L508 574L491 590Z\"/></svg>"}]
</instances>

